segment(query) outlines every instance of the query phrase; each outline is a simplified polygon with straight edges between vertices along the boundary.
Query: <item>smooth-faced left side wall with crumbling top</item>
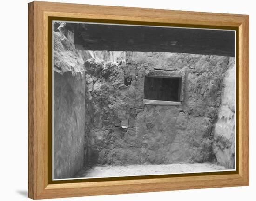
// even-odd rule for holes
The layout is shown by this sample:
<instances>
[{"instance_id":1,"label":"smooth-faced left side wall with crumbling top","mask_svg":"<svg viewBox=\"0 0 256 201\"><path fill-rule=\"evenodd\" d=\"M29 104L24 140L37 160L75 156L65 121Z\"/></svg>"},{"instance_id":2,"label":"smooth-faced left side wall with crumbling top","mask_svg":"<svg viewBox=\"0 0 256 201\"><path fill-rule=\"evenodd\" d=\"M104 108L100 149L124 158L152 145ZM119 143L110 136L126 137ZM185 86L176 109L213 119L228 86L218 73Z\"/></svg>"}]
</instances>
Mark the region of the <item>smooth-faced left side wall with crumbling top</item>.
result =
<instances>
[{"instance_id":1,"label":"smooth-faced left side wall with crumbling top","mask_svg":"<svg viewBox=\"0 0 256 201\"><path fill-rule=\"evenodd\" d=\"M72 178L82 168L86 119L84 61L73 33L60 31L54 31L54 179Z\"/></svg>"}]
</instances>

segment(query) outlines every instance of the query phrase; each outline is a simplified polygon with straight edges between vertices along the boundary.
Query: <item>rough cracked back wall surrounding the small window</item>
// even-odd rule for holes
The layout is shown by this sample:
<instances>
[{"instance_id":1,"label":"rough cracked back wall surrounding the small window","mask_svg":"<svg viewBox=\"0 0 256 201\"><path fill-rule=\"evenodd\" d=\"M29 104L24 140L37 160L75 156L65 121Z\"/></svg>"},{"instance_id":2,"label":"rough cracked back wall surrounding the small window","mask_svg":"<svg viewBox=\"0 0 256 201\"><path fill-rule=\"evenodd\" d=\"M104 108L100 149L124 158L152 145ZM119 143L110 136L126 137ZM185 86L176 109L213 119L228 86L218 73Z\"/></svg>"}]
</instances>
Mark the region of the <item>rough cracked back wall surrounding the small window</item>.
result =
<instances>
[{"instance_id":1,"label":"rough cracked back wall surrounding the small window","mask_svg":"<svg viewBox=\"0 0 256 201\"><path fill-rule=\"evenodd\" d=\"M117 63L88 59L85 166L216 162L214 128L228 64L224 56L166 52L126 52ZM181 75L182 104L144 105L146 74Z\"/></svg>"}]
</instances>

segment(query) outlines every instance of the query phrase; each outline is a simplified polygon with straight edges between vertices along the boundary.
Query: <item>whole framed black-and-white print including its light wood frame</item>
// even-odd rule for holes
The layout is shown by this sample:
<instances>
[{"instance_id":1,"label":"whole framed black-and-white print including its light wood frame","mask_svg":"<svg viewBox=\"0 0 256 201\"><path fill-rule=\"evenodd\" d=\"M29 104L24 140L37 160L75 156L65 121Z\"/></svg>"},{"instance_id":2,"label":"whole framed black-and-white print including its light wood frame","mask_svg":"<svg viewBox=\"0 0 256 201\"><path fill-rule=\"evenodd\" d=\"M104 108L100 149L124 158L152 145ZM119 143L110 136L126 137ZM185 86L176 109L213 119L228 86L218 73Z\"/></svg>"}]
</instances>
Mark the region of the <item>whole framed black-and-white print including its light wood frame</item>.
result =
<instances>
[{"instance_id":1,"label":"whole framed black-and-white print including its light wood frame","mask_svg":"<svg viewBox=\"0 0 256 201\"><path fill-rule=\"evenodd\" d=\"M249 185L249 16L28 8L30 198Z\"/></svg>"}]
</instances>

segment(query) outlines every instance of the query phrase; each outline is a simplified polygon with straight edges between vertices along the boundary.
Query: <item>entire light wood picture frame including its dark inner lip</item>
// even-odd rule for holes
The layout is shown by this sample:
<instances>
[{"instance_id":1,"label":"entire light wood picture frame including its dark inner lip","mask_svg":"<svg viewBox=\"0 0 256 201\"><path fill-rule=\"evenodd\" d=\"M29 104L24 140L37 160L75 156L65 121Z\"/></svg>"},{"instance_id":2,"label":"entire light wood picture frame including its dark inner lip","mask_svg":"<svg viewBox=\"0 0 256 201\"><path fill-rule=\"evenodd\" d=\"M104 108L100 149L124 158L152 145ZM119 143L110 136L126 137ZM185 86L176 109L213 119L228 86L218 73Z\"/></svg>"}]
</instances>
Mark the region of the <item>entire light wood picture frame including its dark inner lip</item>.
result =
<instances>
[{"instance_id":1,"label":"entire light wood picture frame including its dark inner lip","mask_svg":"<svg viewBox=\"0 0 256 201\"><path fill-rule=\"evenodd\" d=\"M236 31L236 170L155 176L52 178L52 21L177 26ZM182 97L183 98L183 97ZM148 101L152 103L152 101ZM95 6L28 4L28 197L47 199L249 185L249 15Z\"/></svg>"}]
</instances>

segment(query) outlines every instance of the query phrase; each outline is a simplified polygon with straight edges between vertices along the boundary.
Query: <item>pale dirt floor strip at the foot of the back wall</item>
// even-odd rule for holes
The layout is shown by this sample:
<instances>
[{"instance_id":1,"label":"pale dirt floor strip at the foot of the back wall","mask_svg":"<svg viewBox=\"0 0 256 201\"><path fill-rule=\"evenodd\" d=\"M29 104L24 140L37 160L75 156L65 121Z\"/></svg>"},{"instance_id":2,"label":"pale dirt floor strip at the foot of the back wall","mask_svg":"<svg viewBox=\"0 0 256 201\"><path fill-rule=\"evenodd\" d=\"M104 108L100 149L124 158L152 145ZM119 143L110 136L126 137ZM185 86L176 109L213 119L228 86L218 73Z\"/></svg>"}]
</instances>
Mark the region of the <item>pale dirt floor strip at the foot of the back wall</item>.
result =
<instances>
[{"instance_id":1,"label":"pale dirt floor strip at the foot of the back wall","mask_svg":"<svg viewBox=\"0 0 256 201\"><path fill-rule=\"evenodd\" d=\"M113 177L134 175L162 175L174 173L212 172L225 170L225 167L208 164L167 164L167 165L128 165L128 166L95 166L81 169L75 178Z\"/></svg>"}]
</instances>

